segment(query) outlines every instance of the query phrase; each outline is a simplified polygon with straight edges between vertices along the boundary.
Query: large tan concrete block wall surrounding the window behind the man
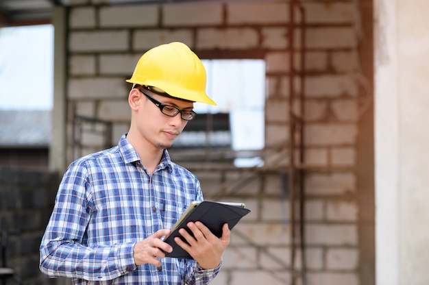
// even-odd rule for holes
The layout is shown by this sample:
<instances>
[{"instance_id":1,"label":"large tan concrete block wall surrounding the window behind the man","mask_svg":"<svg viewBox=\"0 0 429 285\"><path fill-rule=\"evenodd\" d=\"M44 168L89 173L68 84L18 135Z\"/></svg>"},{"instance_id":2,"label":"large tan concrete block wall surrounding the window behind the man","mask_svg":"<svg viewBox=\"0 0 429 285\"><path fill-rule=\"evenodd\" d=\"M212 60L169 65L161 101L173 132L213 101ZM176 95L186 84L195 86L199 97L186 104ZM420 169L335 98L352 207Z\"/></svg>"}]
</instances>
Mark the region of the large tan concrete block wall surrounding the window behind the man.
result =
<instances>
[{"instance_id":1,"label":"large tan concrete block wall surrounding the window behind the man","mask_svg":"<svg viewBox=\"0 0 429 285\"><path fill-rule=\"evenodd\" d=\"M308 284L362 284L356 195L362 91L356 76L360 66L355 2L302 1L306 62L305 66L299 66L298 61L294 64L295 69L306 73ZM147 49L175 40L185 42L201 58L265 60L265 145L267 149L288 145L289 2L107 4L101 0L69 1L66 100L77 104L78 114L112 121L112 145L127 131L130 119L130 84L125 79ZM299 33L296 35L295 48L299 48ZM299 91L299 78L296 83ZM293 108L299 110L297 105ZM71 122L68 124L71 129ZM97 138L88 138L84 141L86 151L101 149L101 140L99 143L97 147ZM67 147L73 148L70 141ZM287 152L278 151L267 158L268 166L275 156L281 158L278 165L289 163ZM69 162L73 159L68 157ZM259 173L238 192L219 190L219 185L234 179L234 174L197 171L206 198L237 199L252 208L252 214L237 226L242 235L232 237L225 267L213 284L288 284L290 202L282 193L280 175Z\"/></svg>"}]
</instances>

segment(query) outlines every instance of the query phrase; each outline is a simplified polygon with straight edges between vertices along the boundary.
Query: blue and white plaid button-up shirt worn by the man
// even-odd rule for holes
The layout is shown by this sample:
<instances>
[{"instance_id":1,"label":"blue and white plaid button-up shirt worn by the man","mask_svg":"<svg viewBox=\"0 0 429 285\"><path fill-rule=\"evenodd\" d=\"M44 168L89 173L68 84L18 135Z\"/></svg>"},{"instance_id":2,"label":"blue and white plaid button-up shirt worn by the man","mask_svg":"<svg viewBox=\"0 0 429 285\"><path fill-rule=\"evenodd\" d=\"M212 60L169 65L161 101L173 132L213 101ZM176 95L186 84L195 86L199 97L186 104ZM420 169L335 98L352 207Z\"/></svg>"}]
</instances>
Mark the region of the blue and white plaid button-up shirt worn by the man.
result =
<instances>
[{"instance_id":1,"label":"blue and white plaid button-up shirt worn by the man","mask_svg":"<svg viewBox=\"0 0 429 285\"><path fill-rule=\"evenodd\" d=\"M208 284L216 269L195 260L134 264L137 241L170 229L191 201L203 199L195 175L162 160L149 176L125 135L117 147L71 163L40 245L40 271L73 284Z\"/></svg>"}]
</instances>

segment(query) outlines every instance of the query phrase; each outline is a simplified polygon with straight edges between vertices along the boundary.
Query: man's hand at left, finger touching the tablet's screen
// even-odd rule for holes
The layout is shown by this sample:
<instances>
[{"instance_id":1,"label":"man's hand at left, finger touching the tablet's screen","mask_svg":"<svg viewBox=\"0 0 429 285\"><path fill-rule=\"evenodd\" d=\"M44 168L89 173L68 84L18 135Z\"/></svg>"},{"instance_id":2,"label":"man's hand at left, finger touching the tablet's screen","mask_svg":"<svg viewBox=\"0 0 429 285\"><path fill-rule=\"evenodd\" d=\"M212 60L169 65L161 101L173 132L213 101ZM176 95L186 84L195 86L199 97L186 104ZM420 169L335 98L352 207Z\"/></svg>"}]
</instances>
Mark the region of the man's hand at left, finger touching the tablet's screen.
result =
<instances>
[{"instance_id":1,"label":"man's hand at left, finger touching the tablet's screen","mask_svg":"<svg viewBox=\"0 0 429 285\"><path fill-rule=\"evenodd\" d=\"M157 258L165 257L162 250L167 252L173 251L171 245L160 240L162 236L167 236L169 233L170 230L158 230L155 234L136 243L134 245L134 262L136 265L150 263L160 267L161 262Z\"/></svg>"}]
</instances>

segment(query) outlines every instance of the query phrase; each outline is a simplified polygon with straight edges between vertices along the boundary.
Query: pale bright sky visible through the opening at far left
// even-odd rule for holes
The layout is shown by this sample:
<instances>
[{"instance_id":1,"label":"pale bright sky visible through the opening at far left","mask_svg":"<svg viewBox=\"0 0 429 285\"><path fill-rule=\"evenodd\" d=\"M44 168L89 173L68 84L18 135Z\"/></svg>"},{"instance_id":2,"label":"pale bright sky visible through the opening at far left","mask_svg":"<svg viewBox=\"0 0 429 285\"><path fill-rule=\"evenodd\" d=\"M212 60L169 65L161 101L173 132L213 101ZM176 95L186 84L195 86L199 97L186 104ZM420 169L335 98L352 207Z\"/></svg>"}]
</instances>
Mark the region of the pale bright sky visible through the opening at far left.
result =
<instances>
[{"instance_id":1,"label":"pale bright sky visible through the opening at far left","mask_svg":"<svg viewBox=\"0 0 429 285\"><path fill-rule=\"evenodd\" d=\"M0 110L51 110L52 82L53 25L0 28Z\"/></svg>"}]
</instances>

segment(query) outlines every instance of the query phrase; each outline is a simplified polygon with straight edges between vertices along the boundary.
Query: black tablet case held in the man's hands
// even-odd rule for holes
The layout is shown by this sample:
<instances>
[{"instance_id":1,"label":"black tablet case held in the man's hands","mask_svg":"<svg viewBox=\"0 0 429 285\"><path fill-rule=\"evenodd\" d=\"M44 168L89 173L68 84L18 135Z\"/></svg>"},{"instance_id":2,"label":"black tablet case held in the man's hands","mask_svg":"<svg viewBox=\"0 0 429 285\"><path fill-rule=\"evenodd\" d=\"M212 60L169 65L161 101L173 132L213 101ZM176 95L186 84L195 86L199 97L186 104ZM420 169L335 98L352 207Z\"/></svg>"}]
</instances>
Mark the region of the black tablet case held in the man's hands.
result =
<instances>
[{"instance_id":1,"label":"black tablet case held in the man's hands","mask_svg":"<svg viewBox=\"0 0 429 285\"><path fill-rule=\"evenodd\" d=\"M220 238L222 236L222 227L225 223L228 223L228 227L232 230L238 221L246 214L249 214L249 212L250 210L247 208L231 206L215 201L201 201L193 212L191 212L173 232L164 238L164 242L173 247L171 253L164 252L165 256L169 258L193 259L187 251L182 249L182 247L177 245L174 241L176 236L182 238L182 235L179 234L179 230L182 228L192 235L191 230L186 226L188 222L200 221L208 227L210 232ZM182 240L184 240L184 238L182 238ZM186 240L184 241L186 242Z\"/></svg>"}]
</instances>

